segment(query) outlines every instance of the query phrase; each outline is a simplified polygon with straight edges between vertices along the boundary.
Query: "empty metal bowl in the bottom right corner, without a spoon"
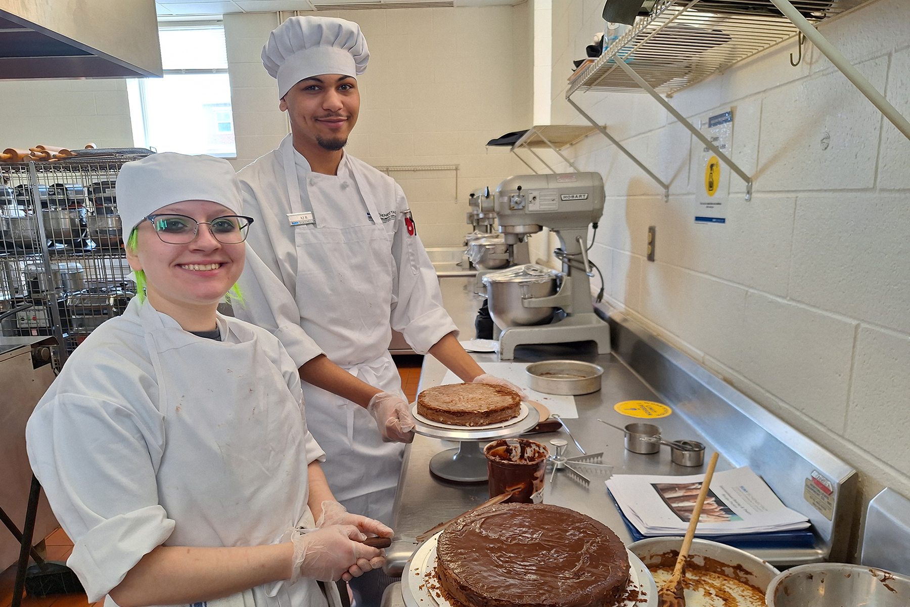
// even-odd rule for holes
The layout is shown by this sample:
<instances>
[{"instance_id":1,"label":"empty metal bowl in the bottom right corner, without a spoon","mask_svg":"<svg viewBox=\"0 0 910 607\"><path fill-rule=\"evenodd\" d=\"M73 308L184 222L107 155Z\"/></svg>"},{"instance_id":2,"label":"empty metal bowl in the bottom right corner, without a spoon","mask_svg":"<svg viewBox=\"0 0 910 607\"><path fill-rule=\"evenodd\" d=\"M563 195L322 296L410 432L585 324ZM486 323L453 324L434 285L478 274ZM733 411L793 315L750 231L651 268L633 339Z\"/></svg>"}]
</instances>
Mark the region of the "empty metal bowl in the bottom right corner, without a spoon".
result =
<instances>
[{"instance_id":1,"label":"empty metal bowl in the bottom right corner, without a spoon","mask_svg":"<svg viewBox=\"0 0 910 607\"><path fill-rule=\"evenodd\" d=\"M775 577L764 601L768 607L906 607L910 577L864 565L814 562Z\"/></svg>"}]
</instances>

